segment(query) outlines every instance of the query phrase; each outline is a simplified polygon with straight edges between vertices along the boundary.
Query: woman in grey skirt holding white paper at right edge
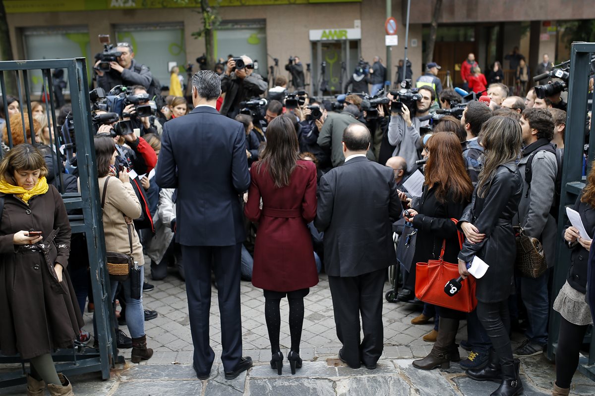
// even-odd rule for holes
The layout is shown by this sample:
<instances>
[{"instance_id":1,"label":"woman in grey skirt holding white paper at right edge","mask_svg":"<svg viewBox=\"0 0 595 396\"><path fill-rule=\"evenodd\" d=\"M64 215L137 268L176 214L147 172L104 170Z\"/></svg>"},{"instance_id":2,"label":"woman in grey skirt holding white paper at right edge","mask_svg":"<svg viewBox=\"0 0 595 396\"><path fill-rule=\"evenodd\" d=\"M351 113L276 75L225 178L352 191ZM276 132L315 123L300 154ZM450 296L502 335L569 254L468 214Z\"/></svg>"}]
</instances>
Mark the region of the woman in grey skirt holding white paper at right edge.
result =
<instances>
[{"instance_id":1,"label":"woman in grey skirt holding white paper at right edge","mask_svg":"<svg viewBox=\"0 0 595 396\"><path fill-rule=\"evenodd\" d=\"M593 317L586 299L587 266L591 239L595 237L595 167L587 175L587 186L578 196L573 209L578 212L588 235L580 235L576 227L566 228L564 239L572 249L566 283L562 286L553 308L560 313L560 333L556 349L556 381L552 396L568 396L572 376L577 371L578 358L587 328Z\"/></svg>"}]
</instances>

